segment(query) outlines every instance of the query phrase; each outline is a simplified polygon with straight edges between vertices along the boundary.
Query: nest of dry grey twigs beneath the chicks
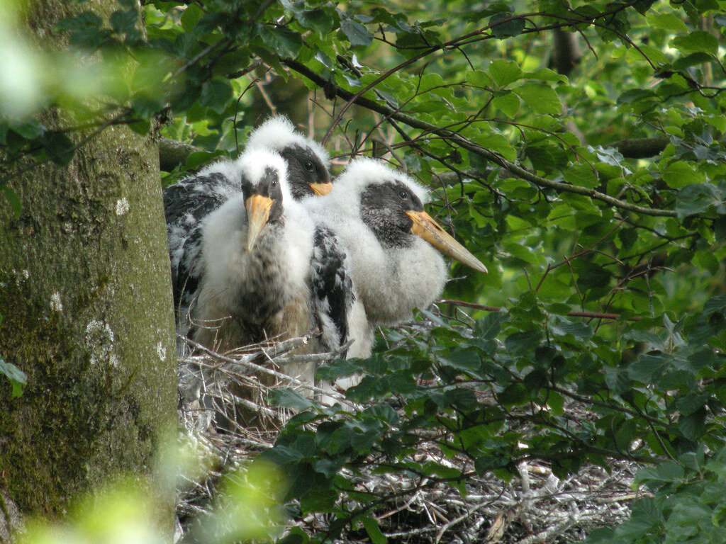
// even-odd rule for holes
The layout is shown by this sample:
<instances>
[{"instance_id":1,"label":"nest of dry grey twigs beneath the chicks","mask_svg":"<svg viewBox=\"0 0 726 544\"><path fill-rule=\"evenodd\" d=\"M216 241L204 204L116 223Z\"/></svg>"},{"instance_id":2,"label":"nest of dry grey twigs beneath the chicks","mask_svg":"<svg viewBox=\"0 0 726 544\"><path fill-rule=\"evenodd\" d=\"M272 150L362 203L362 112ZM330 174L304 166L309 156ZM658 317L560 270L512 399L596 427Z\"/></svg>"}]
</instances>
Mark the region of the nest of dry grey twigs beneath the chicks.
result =
<instances>
[{"instance_id":1,"label":"nest of dry grey twigs beneath the chicks","mask_svg":"<svg viewBox=\"0 0 726 544\"><path fill-rule=\"evenodd\" d=\"M182 527L211 511L217 483L222 474L245 466L258 453L271 448L290 413L267 401L279 387L298 390L303 396L327 395L349 403L340 392L320 390L292 379L279 368L301 358L325 360L336 354L293 355L308 337L269 342L224 355L193 345L199 355L181 358L179 364L180 435L187 444L203 450L208 460L203 476L187 477L177 490L176 513ZM230 384L243 383L256 392L249 398L235 397ZM200 398L206 397L206 402ZM218 433L211 422L215 412L231 414L235 403L257 411L261 423L254 427L235 426ZM591 416L582 405L566 408L572 416ZM435 461L467 471L470 460L448 458L424 442L416 461ZM366 468L367 467L367 468ZM375 463L346 476L380 501L372 516L378 520L388 543L569 543L582 540L592 529L623 522L640 493L634 492L636 463L613 461L608 470L584 466L576 474L560 479L547 463L527 461L518 466L518 477L509 482L486 474L465 483L466 493L440 482L403 474L374 474ZM351 501L348 511L356 504ZM292 520L309 534L327 530L330 518L308 515ZM370 542L361 527L343 533L346 543Z\"/></svg>"}]
</instances>

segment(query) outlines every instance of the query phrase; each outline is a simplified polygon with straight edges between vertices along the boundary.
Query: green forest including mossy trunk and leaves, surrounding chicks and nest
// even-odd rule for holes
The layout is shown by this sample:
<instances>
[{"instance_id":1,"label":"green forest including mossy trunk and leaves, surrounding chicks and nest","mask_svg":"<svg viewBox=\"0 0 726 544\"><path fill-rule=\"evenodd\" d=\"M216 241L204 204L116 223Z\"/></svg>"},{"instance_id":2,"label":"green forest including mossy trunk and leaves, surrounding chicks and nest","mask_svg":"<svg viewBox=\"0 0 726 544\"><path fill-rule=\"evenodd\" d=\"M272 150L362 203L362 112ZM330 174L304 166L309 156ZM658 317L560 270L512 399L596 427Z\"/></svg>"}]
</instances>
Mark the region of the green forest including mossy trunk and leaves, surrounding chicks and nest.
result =
<instances>
[{"instance_id":1,"label":"green forest including mossy trunk and leaves, surrounding chicks and nest","mask_svg":"<svg viewBox=\"0 0 726 544\"><path fill-rule=\"evenodd\" d=\"M648 493L588 542L726 540L726 2L0 10L6 527L152 470L176 403L161 186L286 113L336 168L374 154L430 186L489 267L452 265L426 334L380 331L371 360L321 371L363 371L367 408L298 406L269 453L297 514L330 516L288 538L383 542L364 465L465 494L523 461L625 460Z\"/></svg>"}]
</instances>

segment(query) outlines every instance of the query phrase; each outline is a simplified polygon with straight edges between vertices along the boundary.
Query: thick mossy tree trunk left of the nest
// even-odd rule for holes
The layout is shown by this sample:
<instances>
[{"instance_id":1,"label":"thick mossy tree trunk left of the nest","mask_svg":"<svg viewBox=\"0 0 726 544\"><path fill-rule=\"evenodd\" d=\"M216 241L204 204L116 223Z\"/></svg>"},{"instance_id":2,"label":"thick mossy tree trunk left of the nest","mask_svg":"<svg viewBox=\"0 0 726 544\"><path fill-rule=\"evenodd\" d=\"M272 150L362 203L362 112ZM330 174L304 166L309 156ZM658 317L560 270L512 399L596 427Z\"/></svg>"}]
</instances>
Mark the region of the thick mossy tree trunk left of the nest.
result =
<instances>
[{"instance_id":1,"label":"thick mossy tree trunk left of the nest","mask_svg":"<svg viewBox=\"0 0 726 544\"><path fill-rule=\"evenodd\" d=\"M60 49L52 29L70 3L31 5L28 28L41 46ZM118 4L81 7L103 16ZM49 129L73 121L60 110L42 118ZM117 474L150 477L176 424L156 144L107 128L67 168L43 165L9 186L23 211L0 201L0 356L28 384L12 398L0 380L0 542L20 516L59 516ZM160 522L171 531L173 489L164 500Z\"/></svg>"}]
</instances>

